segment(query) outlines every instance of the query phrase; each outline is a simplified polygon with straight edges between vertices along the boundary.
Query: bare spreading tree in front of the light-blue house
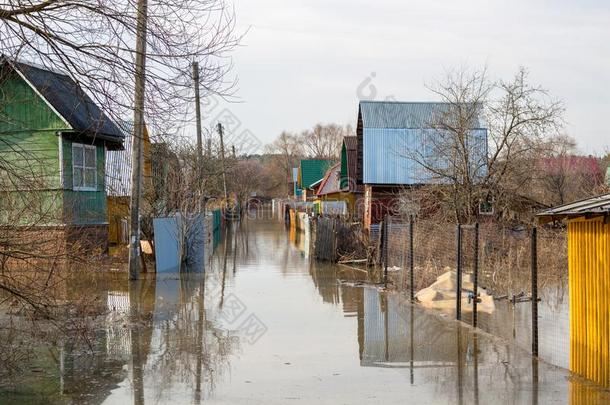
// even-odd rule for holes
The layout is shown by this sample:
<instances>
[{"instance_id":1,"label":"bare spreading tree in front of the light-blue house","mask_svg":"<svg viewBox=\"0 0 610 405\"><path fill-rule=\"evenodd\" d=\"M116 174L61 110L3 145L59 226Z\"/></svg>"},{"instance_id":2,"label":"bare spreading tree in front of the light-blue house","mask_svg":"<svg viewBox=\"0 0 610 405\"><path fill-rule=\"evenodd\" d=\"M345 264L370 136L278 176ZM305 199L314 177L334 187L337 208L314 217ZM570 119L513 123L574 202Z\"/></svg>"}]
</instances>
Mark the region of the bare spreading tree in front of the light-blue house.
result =
<instances>
[{"instance_id":1,"label":"bare spreading tree in front of the light-blue house","mask_svg":"<svg viewBox=\"0 0 610 405\"><path fill-rule=\"evenodd\" d=\"M453 219L472 222L480 202L501 206L518 194L507 180L531 176L527 165L541 141L558 133L564 108L545 89L529 84L523 68L512 80L497 82L485 70L461 70L431 90L442 107L420 147L405 155L436 185Z\"/></svg>"}]
</instances>

